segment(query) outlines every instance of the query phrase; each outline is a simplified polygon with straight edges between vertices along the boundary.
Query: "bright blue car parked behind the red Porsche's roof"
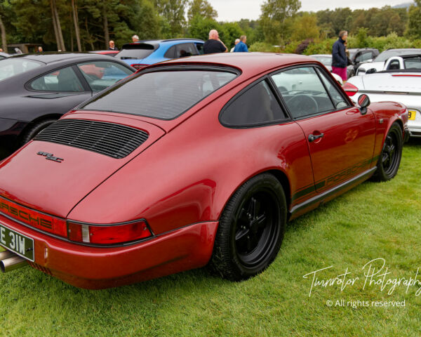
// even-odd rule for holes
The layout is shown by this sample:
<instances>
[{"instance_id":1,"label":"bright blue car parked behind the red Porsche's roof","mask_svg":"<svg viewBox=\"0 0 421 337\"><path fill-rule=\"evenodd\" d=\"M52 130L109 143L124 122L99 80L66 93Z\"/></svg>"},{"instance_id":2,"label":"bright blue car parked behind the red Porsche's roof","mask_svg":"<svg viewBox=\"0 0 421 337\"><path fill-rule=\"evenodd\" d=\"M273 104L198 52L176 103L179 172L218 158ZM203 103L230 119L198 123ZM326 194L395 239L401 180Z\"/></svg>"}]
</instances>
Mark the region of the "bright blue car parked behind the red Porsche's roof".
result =
<instances>
[{"instance_id":1,"label":"bright blue car parked behind the red Porsche's roof","mask_svg":"<svg viewBox=\"0 0 421 337\"><path fill-rule=\"evenodd\" d=\"M203 44L204 41L199 39L142 40L124 44L115 58L119 58L135 69L141 69L173 58L201 55Z\"/></svg>"}]
</instances>

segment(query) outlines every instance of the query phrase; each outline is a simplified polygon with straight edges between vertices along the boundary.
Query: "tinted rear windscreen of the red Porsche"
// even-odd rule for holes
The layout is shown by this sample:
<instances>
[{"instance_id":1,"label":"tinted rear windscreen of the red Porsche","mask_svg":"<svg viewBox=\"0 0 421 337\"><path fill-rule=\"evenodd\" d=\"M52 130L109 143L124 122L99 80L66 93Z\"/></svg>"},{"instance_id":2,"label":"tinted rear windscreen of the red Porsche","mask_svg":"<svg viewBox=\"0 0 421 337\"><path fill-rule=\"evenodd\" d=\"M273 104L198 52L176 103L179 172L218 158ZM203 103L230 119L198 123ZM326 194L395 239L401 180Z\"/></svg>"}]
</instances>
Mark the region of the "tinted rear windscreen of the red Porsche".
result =
<instances>
[{"instance_id":1,"label":"tinted rear windscreen of the red Porsche","mask_svg":"<svg viewBox=\"0 0 421 337\"><path fill-rule=\"evenodd\" d=\"M106 91L79 109L173 119L236 76L212 70L149 72Z\"/></svg>"}]
</instances>

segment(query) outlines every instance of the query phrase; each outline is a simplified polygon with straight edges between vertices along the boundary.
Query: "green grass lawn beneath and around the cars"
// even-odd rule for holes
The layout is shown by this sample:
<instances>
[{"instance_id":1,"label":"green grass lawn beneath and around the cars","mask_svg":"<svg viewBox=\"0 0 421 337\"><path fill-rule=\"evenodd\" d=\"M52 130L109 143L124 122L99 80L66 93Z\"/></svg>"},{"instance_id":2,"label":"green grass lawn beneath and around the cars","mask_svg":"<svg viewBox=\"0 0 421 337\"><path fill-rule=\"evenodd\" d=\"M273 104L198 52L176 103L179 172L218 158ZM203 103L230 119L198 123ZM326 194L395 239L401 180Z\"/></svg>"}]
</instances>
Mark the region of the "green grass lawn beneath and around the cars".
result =
<instances>
[{"instance_id":1,"label":"green grass lawn beneath and around the cars","mask_svg":"<svg viewBox=\"0 0 421 337\"><path fill-rule=\"evenodd\" d=\"M421 280L421 140L403 149L399 173L366 182L288 224L279 256L261 275L232 283L192 270L117 289L76 289L25 267L0 275L0 336L420 336L421 286L366 285L361 268L384 258L387 279ZM353 286L312 276L347 270ZM376 265L376 267L379 267ZM376 278L377 279L377 278ZM333 301L329 307L326 303ZM403 301L403 308L337 300Z\"/></svg>"}]
</instances>

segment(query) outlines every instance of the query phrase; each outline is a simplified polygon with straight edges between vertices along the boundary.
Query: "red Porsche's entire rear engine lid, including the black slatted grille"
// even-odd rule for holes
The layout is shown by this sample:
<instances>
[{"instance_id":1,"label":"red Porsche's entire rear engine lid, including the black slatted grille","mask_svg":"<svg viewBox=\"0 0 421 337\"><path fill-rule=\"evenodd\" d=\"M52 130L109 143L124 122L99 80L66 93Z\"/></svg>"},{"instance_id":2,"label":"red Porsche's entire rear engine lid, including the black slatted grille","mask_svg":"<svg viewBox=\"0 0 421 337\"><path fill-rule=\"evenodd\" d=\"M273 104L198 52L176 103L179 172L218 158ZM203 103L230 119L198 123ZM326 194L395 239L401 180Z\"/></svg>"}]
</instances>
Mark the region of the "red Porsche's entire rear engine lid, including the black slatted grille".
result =
<instances>
[{"instance_id":1,"label":"red Porsche's entire rear engine lid, including the black slatted grille","mask_svg":"<svg viewBox=\"0 0 421 337\"><path fill-rule=\"evenodd\" d=\"M69 114L0 162L0 195L66 217L83 197L164 133L127 117Z\"/></svg>"}]
</instances>

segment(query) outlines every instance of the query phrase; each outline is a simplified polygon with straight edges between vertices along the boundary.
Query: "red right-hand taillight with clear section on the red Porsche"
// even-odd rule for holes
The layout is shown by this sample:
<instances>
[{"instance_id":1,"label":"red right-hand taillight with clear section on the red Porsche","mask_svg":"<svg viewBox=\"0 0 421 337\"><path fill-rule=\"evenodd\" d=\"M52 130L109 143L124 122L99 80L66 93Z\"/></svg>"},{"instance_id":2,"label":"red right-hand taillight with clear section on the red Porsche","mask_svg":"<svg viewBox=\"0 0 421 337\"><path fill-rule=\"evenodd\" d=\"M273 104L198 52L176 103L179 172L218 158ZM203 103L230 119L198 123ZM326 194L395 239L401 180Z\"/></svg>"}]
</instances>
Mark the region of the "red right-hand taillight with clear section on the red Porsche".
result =
<instances>
[{"instance_id":1,"label":"red right-hand taillight with clear section on the red Porsche","mask_svg":"<svg viewBox=\"0 0 421 337\"><path fill-rule=\"evenodd\" d=\"M122 225L91 225L69 221L67 234L69 240L87 244L120 244L152 235L143 220Z\"/></svg>"}]
</instances>

